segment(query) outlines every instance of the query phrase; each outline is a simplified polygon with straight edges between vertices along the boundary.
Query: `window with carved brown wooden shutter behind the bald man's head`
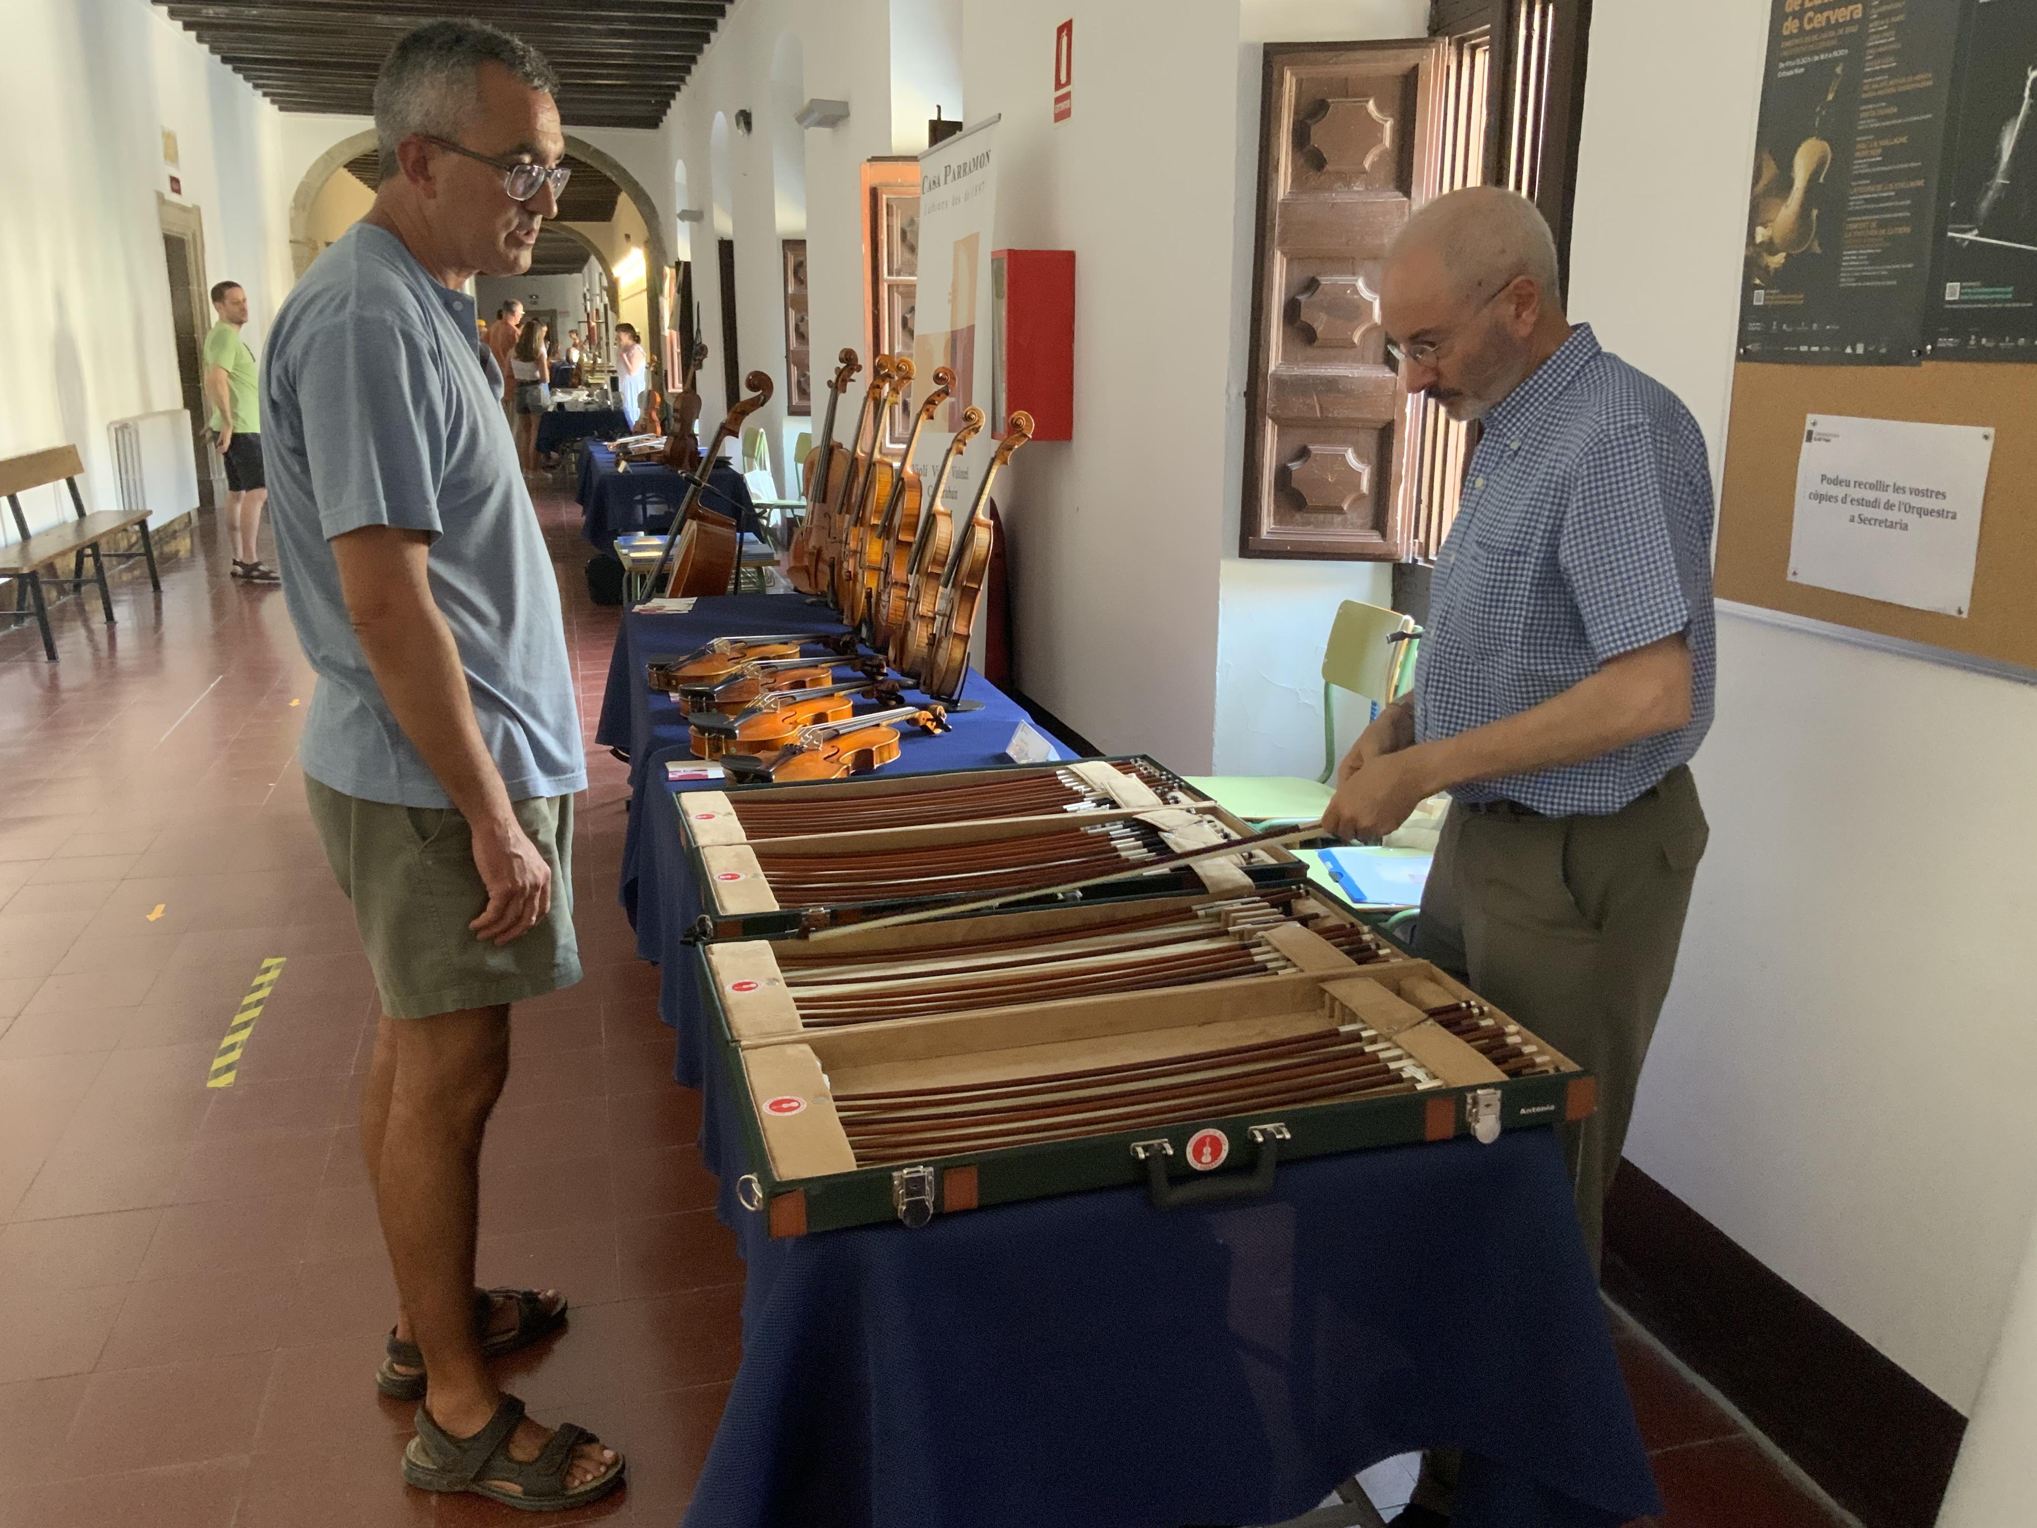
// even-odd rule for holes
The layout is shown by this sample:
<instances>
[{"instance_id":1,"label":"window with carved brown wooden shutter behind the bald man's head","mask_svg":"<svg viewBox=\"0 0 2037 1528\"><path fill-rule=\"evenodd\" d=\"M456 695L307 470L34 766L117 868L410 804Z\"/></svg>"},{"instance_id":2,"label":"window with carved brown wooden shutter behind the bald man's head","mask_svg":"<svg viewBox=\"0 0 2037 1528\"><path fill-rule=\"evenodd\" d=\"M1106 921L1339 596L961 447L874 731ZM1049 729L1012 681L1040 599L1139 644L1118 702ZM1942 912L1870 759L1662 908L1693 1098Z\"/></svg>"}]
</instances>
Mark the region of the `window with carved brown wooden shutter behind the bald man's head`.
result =
<instances>
[{"instance_id":1,"label":"window with carved brown wooden shutter behind the bald man's head","mask_svg":"<svg viewBox=\"0 0 2037 1528\"><path fill-rule=\"evenodd\" d=\"M1432 196L1507 185L1568 271L1587 24L1589 0L1436 0L1430 43L1267 47L1245 556L1442 550L1473 436L1399 391L1379 259Z\"/></svg>"}]
</instances>

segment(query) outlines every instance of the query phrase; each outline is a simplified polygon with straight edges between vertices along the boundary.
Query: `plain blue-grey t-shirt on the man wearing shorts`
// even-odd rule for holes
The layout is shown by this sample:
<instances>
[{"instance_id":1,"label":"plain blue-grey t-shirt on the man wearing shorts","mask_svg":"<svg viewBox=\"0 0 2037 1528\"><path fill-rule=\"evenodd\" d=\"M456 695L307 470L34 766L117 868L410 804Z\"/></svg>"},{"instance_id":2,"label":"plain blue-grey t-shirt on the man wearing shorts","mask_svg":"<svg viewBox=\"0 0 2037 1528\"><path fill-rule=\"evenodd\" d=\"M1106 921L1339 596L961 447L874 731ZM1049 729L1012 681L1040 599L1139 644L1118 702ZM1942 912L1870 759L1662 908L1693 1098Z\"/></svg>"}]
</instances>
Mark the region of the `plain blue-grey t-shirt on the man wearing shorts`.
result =
<instances>
[{"instance_id":1,"label":"plain blue-grey t-shirt on the man wearing shorts","mask_svg":"<svg viewBox=\"0 0 2037 1528\"><path fill-rule=\"evenodd\" d=\"M354 224L269 330L263 426L283 599L318 670L304 772L365 801L452 805L369 672L330 546L401 526L432 536L432 597L509 799L587 788L558 587L475 299Z\"/></svg>"}]
</instances>

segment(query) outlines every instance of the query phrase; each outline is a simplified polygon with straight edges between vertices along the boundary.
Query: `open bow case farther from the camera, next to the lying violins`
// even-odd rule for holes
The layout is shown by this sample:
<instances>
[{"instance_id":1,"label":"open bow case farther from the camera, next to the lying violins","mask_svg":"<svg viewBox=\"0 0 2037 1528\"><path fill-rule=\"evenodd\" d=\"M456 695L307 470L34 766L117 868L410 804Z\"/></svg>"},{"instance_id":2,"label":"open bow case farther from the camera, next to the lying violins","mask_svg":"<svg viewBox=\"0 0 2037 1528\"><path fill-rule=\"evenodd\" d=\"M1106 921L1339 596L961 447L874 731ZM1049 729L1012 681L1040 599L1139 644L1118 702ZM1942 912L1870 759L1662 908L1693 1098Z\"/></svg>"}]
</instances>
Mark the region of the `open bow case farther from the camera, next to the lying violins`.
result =
<instances>
[{"instance_id":1,"label":"open bow case farther from the camera, next to the lying violins","mask_svg":"<svg viewBox=\"0 0 2037 1528\"><path fill-rule=\"evenodd\" d=\"M674 797L711 937L776 937L1071 880L1082 901L1293 886L1281 848L1149 758ZM1067 901L1067 896L1063 896Z\"/></svg>"}]
</instances>

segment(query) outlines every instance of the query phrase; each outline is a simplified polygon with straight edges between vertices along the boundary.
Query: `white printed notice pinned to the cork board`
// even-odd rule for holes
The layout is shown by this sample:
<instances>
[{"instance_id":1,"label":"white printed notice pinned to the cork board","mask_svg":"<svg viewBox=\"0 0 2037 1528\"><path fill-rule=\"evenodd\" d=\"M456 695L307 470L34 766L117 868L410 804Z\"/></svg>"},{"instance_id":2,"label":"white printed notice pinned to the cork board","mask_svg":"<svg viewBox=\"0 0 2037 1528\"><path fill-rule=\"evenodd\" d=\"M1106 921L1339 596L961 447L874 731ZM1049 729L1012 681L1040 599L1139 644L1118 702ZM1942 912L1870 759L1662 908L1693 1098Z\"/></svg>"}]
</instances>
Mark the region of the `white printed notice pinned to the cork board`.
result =
<instances>
[{"instance_id":1,"label":"white printed notice pinned to the cork board","mask_svg":"<svg viewBox=\"0 0 2037 1528\"><path fill-rule=\"evenodd\" d=\"M1966 615L1994 430L1805 418L1791 583Z\"/></svg>"}]
</instances>

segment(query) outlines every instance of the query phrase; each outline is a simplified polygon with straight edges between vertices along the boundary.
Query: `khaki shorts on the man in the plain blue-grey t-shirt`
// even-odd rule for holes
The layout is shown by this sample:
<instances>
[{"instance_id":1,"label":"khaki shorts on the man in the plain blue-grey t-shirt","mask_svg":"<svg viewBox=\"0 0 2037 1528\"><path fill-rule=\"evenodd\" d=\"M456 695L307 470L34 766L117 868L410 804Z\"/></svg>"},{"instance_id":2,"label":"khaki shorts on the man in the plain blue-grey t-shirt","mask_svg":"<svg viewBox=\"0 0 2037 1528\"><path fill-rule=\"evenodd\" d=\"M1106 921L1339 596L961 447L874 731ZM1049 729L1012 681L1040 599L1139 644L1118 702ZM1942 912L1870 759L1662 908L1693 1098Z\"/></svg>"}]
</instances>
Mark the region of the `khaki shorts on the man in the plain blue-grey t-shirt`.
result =
<instances>
[{"instance_id":1,"label":"khaki shorts on the man in the plain blue-grey t-shirt","mask_svg":"<svg viewBox=\"0 0 2037 1528\"><path fill-rule=\"evenodd\" d=\"M383 1013L434 1013L521 1002L581 980L572 931L572 797L532 797L515 817L552 866L552 911L507 945L475 937L489 894L475 837L452 807L361 801L304 778L326 860L352 898Z\"/></svg>"}]
</instances>

